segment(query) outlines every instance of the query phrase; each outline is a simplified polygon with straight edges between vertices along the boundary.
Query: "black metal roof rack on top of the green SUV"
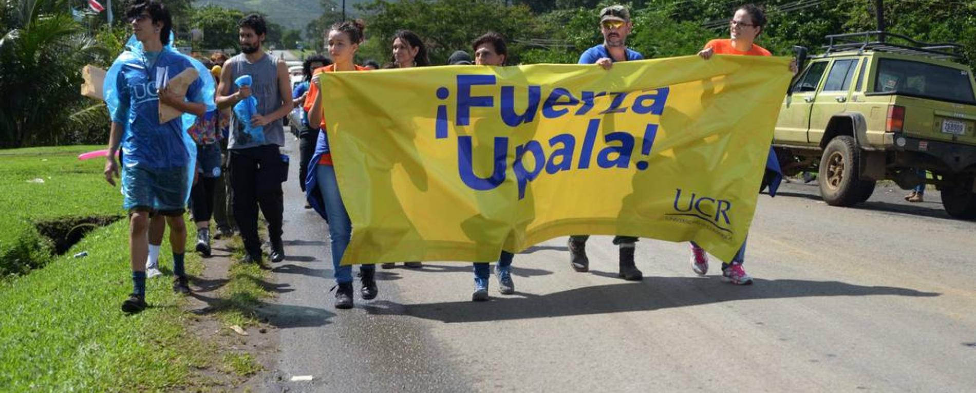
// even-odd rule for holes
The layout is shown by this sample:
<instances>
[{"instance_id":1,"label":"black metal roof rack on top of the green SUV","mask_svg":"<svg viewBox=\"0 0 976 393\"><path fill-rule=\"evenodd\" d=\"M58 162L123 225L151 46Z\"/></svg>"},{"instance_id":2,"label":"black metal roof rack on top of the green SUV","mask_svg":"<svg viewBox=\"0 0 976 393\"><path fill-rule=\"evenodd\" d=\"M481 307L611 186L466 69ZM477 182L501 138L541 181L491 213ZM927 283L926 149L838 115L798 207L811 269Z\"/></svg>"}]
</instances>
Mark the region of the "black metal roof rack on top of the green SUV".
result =
<instances>
[{"instance_id":1,"label":"black metal roof rack on top of the green SUV","mask_svg":"<svg viewBox=\"0 0 976 393\"><path fill-rule=\"evenodd\" d=\"M928 43L915 41L901 34L885 31L865 31L860 33L828 35L830 44L825 45L827 54L840 51L871 50L902 55L923 56L932 59L962 59L962 46L955 43ZM889 38L896 38L898 43Z\"/></svg>"}]
</instances>

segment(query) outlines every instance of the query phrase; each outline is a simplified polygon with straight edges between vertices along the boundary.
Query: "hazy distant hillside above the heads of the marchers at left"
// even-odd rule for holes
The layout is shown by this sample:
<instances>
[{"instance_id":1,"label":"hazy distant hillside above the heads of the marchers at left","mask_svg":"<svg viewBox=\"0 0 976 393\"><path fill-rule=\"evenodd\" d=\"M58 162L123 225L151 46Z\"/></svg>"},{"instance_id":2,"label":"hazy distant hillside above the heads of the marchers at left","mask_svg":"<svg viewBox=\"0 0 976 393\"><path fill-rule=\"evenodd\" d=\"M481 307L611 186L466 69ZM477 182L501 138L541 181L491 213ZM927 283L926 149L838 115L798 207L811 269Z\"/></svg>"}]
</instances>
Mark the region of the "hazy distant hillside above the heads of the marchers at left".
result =
<instances>
[{"instance_id":1,"label":"hazy distant hillside above the heads of the marchers at left","mask_svg":"<svg viewBox=\"0 0 976 393\"><path fill-rule=\"evenodd\" d=\"M340 7L343 0L335 0ZM367 3L370 0L346 0L346 14L355 14L355 5ZM309 21L322 15L322 3L319 0L194 0L193 6L203 7L215 5L243 12L258 12L267 16L268 21L280 24L286 29L302 31L305 35L305 25ZM339 11L339 10L337 10Z\"/></svg>"}]
</instances>

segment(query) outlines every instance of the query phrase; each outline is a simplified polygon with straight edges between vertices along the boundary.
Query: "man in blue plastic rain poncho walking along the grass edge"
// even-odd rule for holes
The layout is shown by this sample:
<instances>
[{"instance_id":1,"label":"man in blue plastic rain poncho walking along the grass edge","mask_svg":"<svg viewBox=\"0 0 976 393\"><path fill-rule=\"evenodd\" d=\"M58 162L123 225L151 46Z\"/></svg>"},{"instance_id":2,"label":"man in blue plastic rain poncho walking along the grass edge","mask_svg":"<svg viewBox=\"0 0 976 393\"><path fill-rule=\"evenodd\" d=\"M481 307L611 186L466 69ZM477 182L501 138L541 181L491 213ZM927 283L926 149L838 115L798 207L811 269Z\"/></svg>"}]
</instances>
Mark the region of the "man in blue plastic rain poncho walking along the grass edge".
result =
<instances>
[{"instance_id":1,"label":"man in blue plastic rain poncho walking along the grass edge","mask_svg":"<svg viewBox=\"0 0 976 393\"><path fill-rule=\"evenodd\" d=\"M183 268L186 246L183 211L196 149L185 130L196 116L216 106L213 82L208 86L200 77L205 76L203 65L197 65L199 61L181 55L170 46L172 18L165 6L156 0L140 1L129 7L126 17L133 29L133 39L105 77L105 103L112 125L104 176L108 183L115 185L115 177L120 175L115 152L121 147L123 208L129 211L130 218L133 280L133 293L122 303L122 311L135 313L146 307L145 260L150 215L166 216L173 247L173 289L189 293ZM171 91L167 82L190 68L197 69L200 75L183 97ZM184 115L160 123L161 103Z\"/></svg>"}]
</instances>

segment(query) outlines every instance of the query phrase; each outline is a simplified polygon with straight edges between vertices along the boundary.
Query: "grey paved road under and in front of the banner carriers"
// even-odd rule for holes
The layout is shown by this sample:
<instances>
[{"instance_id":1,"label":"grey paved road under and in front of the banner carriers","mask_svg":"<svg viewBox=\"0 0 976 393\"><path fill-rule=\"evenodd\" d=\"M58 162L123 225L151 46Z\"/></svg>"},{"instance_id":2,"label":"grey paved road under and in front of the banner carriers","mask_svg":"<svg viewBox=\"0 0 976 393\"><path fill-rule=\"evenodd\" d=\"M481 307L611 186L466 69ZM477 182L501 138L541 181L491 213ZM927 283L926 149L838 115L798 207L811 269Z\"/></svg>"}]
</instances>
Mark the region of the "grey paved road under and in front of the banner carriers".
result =
<instances>
[{"instance_id":1,"label":"grey paved road under and in front of the banner carriers","mask_svg":"<svg viewBox=\"0 0 976 393\"><path fill-rule=\"evenodd\" d=\"M380 296L340 311L326 225L295 175L268 307L280 352L260 390L976 391L976 222L900 189L859 209L827 206L815 183L761 196L750 287L698 277L686 245L653 240L637 245L641 283L615 277L609 237L575 273L561 238L516 256L517 295L493 282L472 303L469 265L434 262L380 270Z\"/></svg>"}]
</instances>

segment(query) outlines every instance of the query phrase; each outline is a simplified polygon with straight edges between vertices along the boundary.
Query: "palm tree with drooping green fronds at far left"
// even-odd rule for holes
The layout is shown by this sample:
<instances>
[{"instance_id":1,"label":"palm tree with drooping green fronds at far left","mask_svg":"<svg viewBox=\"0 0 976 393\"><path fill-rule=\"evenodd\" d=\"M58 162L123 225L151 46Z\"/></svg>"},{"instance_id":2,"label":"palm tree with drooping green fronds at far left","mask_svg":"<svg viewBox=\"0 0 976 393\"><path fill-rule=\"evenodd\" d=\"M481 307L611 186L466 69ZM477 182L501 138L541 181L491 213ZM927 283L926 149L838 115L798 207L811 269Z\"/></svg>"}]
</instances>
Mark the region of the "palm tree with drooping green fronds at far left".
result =
<instances>
[{"instance_id":1,"label":"palm tree with drooping green fronds at far left","mask_svg":"<svg viewBox=\"0 0 976 393\"><path fill-rule=\"evenodd\" d=\"M107 54L59 0L0 4L0 147L58 144L89 106L79 95L84 64Z\"/></svg>"}]
</instances>

